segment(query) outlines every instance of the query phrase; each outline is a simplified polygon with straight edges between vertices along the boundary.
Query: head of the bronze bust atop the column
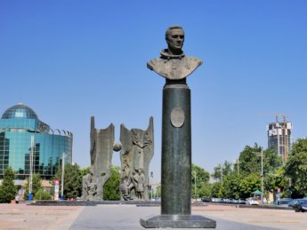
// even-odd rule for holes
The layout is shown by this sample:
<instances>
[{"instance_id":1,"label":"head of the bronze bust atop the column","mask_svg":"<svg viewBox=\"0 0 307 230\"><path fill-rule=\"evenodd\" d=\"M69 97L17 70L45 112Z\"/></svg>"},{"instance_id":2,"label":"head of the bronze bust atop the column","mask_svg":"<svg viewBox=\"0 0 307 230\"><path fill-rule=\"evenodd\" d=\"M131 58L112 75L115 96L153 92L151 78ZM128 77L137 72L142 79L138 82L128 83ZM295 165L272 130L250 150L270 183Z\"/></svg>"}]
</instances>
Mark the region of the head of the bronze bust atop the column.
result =
<instances>
[{"instance_id":1,"label":"head of the bronze bust atop the column","mask_svg":"<svg viewBox=\"0 0 307 230\"><path fill-rule=\"evenodd\" d=\"M181 26L172 26L166 29L166 43L170 54L182 54L184 31Z\"/></svg>"}]
</instances>

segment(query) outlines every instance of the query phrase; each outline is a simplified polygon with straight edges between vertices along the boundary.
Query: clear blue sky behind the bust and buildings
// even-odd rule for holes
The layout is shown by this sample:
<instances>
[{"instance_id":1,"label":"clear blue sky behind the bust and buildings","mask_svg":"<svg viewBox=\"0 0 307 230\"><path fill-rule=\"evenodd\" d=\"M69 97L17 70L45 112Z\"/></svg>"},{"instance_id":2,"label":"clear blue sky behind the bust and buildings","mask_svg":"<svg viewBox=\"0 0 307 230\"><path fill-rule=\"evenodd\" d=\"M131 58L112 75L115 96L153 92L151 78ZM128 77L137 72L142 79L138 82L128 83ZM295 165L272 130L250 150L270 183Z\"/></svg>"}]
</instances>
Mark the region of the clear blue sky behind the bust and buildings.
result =
<instances>
[{"instance_id":1,"label":"clear blue sky behind the bust and buildings","mask_svg":"<svg viewBox=\"0 0 307 230\"><path fill-rule=\"evenodd\" d=\"M213 171L246 145L267 147L266 124L286 114L307 136L307 1L0 1L0 111L22 101L74 133L73 161L90 164L96 128L155 125L150 165L160 175L162 88L146 62L185 30L183 50L204 60L188 78L192 162ZM1 113L3 113L1 112ZM119 165L118 153L113 163Z\"/></svg>"}]
</instances>

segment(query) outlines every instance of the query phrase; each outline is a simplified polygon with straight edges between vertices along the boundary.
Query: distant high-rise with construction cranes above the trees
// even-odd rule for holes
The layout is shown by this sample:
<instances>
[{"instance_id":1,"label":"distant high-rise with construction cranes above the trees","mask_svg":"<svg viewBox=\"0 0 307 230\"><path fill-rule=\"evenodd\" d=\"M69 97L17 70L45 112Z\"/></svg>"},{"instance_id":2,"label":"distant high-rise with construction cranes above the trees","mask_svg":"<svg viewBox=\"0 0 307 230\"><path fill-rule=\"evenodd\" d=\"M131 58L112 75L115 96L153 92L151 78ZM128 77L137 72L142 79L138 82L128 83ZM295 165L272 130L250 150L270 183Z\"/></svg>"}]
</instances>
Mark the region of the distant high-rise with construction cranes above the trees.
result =
<instances>
[{"instance_id":1,"label":"distant high-rise with construction cranes above the trees","mask_svg":"<svg viewBox=\"0 0 307 230\"><path fill-rule=\"evenodd\" d=\"M267 131L268 147L275 148L278 155L281 156L282 162L285 163L285 156L287 161L287 155L291 150L292 123L269 123L267 125Z\"/></svg>"}]
</instances>

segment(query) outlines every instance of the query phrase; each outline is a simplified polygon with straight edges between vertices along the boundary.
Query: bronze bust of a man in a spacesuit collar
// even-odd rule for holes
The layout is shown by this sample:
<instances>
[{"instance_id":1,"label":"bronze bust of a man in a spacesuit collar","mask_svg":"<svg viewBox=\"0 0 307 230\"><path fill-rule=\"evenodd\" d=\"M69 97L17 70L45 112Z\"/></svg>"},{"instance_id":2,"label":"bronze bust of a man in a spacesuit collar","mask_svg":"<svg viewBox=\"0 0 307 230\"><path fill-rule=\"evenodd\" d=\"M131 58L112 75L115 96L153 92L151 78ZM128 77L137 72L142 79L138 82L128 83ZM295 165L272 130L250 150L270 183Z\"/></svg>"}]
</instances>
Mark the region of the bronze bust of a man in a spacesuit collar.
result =
<instances>
[{"instance_id":1,"label":"bronze bust of a man in a spacesuit collar","mask_svg":"<svg viewBox=\"0 0 307 230\"><path fill-rule=\"evenodd\" d=\"M184 32L180 26L166 29L168 48L161 51L161 57L149 60L147 67L168 80L181 80L190 75L203 61L194 57L185 57L182 51Z\"/></svg>"}]
</instances>

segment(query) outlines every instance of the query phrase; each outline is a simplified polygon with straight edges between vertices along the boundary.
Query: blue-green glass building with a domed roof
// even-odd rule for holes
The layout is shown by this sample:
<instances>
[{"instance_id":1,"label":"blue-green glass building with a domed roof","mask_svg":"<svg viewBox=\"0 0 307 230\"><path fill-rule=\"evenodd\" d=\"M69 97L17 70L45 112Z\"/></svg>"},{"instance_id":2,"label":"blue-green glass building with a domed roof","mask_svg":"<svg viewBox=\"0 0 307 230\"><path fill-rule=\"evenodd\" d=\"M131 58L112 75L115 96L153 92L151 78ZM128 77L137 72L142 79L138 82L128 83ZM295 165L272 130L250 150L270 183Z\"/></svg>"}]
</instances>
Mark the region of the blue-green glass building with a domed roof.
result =
<instances>
[{"instance_id":1,"label":"blue-green glass building with a domed roof","mask_svg":"<svg viewBox=\"0 0 307 230\"><path fill-rule=\"evenodd\" d=\"M65 163L71 163L72 140L71 132L51 129L32 108L22 103L9 107L0 119L0 179L8 166L18 179L28 178L30 165L33 173L52 178L63 153Z\"/></svg>"}]
</instances>

